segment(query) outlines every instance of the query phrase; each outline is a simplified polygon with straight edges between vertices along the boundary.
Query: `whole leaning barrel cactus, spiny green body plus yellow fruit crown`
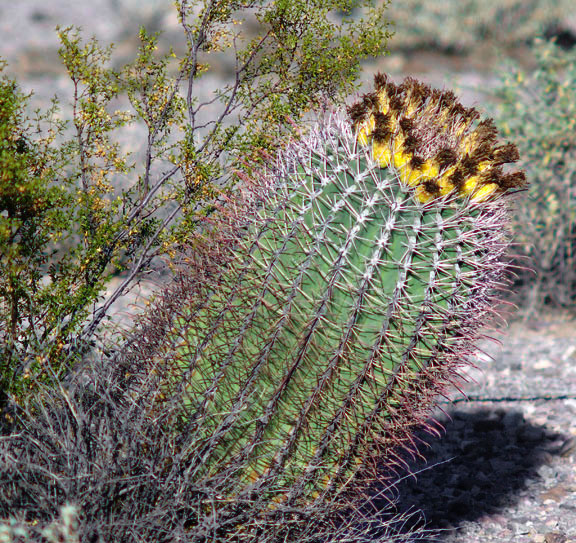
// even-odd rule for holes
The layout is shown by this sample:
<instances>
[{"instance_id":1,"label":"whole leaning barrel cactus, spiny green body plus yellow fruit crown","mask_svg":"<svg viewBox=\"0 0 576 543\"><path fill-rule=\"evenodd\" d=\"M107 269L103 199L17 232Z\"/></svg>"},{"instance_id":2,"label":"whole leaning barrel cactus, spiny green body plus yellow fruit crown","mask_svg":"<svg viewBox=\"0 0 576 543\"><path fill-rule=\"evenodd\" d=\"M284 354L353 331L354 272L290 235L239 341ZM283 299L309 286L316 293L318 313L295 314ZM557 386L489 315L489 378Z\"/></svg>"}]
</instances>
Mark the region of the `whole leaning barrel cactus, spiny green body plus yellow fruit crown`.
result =
<instances>
[{"instance_id":1,"label":"whole leaning barrel cactus, spiny green body plus yellow fruit crown","mask_svg":"<svg viewBox=\"0 0 576 543\"><path fill-rule=\"evenodd\" d=\"M191 540L310 526L394 462L490 315L516 159L450 92L378 76L239 172L118 365Z\"/></svg>"}]
</instances>

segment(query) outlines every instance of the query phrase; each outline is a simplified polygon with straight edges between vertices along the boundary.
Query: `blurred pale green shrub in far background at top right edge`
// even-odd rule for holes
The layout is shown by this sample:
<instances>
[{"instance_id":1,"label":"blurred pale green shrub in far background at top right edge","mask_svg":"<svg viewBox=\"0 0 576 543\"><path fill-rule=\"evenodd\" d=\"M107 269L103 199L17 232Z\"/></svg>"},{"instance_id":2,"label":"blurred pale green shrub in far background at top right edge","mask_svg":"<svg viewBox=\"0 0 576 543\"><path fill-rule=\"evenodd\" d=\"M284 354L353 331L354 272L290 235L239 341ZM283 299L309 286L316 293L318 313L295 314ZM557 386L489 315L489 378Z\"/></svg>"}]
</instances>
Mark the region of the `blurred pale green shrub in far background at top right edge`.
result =
<instances>
[{"instance_id":1,"label":"blurred pale green shrub in far background at top right edge","mask_svg":"<svg viewBox=\"0 0 576 543\"><path fill-rule=\"evenodd\" d=\"M557 27L573 11L571 0L444 0L392 2L395 49L435 47L469 52L480 44L509 47Z\"/></svg>"}]
</instances>

